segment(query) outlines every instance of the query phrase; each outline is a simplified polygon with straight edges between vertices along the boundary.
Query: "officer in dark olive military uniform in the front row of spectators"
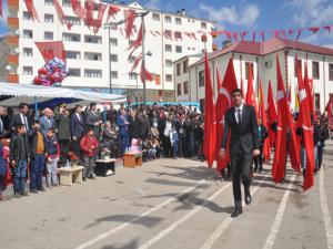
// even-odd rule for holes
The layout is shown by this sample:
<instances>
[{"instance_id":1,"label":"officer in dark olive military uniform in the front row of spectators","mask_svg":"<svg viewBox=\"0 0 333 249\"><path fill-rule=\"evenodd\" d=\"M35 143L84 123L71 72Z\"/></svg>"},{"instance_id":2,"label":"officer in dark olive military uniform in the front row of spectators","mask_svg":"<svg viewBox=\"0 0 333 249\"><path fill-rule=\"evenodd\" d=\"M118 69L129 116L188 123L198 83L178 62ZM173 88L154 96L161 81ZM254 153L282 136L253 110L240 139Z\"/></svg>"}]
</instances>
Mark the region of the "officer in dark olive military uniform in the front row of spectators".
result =
<instances>
[{"instance_id":1,"label":"officer in dark olive military uniform in the front row of spectators","mask_svg":"<svg viewBox=\"0 0 333 249\"><path fill-rule=\"evenodd\" d=\"M71 139L69 112L65 108L65 104L60 105L59 113L54 116L54 121L57 122L58 141L60 145L60 164L64 166L69 158L68 152Z\"/></svg>"}]
</instances>

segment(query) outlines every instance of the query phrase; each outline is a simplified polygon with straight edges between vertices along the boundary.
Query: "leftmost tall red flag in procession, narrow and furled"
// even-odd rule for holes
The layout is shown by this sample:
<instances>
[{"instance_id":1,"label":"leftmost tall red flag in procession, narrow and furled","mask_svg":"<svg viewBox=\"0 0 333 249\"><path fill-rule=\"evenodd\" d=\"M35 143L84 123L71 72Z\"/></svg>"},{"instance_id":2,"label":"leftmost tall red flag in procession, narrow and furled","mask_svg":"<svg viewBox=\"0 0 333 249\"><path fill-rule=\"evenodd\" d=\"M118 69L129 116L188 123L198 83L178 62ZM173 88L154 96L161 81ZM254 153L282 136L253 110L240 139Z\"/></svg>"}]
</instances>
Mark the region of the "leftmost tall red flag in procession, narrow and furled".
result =
<instances>
[{"instance_id":1,"label":"leftmost tall red flag in procession, narrow and furled","mask_svg":"<svg viewBox=\"0 0 333 249\"><path fill-rule=\"evenodd\" d=\"M204 95L205 104L203 154L205 155L209 167L212 167L216 152L216 121L213 86L206 53L204 54Z\"/></svg>"}]
</instances>

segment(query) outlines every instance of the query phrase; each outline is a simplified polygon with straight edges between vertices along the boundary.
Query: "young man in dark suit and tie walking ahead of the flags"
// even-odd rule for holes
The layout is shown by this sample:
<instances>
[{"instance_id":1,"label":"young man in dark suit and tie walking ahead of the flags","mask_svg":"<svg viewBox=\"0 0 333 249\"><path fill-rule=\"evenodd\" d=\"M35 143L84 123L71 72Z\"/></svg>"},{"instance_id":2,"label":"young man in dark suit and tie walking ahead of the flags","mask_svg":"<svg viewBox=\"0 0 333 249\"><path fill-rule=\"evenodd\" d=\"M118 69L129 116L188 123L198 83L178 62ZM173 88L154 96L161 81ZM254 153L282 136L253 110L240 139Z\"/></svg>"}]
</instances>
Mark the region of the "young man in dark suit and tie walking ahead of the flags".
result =
<instances>
[{"instance_id":1,"label":"young man in dark suit and tie walking ahead of the flags","mask_svg":"<svg viewBox=\"0 0 333 249\"><path fill-rule=\"evenodd\" d=\"M242 91L240 89L233 91L232 100L234 107L229 108L224 117L224 134L220 156L225 157L228 136L231 133L229 151L235 205L231 217L238 217L242 214L241 175L245 191L245 204L250 205L252 201L250 194L251 166L253 157L258 156L260 151L254 107L242 103Z\"/></svg>"}]
</instances>

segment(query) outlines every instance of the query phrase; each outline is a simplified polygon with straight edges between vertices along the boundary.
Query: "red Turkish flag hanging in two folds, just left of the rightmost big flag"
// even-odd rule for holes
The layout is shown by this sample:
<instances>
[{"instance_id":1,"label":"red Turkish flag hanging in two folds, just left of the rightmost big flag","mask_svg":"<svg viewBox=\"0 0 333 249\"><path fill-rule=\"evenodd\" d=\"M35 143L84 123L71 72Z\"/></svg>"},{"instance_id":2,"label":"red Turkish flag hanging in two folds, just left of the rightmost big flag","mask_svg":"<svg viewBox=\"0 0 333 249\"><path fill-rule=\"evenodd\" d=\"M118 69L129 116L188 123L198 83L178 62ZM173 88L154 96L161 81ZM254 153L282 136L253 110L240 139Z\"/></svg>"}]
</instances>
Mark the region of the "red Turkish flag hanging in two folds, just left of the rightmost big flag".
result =
<instances>
[{"instance_id":1,"label":"red Turkish flag hanging in two folds, just left of the rightmost big flag","mask_svg":"<svg viewBox=\"0 0 333 249\"><path fill-rule=\"evenodd\" d=\"M272 176L275 183L281 183L284 177L284 169L286 165L286 132L287 126L290 128L291 138L293 145L296 145L296 135L294 131L294 124L290 112L290 106L286 100L286 93L284 89L284 82L281 74L280 62L276 54L276 79L278 79L278 126L276 126L276 139L275 139L275 153L272 166ZM296 146L294 146L296 147ZM300 162L299 153L292 151L293 155ZM301 170L300 165L293 165L293 168L297 172Z\"/></svg>"}]
</instances>

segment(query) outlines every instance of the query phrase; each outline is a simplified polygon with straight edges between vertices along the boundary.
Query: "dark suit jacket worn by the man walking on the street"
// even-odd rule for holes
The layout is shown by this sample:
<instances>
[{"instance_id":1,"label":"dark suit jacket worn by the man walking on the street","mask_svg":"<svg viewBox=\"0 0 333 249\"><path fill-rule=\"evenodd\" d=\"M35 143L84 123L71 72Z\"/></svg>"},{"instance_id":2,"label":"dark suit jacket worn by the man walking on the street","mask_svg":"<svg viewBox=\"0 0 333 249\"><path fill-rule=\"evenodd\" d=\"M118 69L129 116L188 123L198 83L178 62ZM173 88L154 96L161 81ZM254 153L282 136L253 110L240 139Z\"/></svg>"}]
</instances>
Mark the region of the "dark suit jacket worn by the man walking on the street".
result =
<instances>
[{"instance_id":1,"label":"dark suit jacket worn by the man walking on the street","mask_svg":"<svg viewBox=\"0 0 333 249\"><path fill-rule=\"evenodd\" d=\"M225 113L224 134L222 148L226 148L229 133L231 132L229 152L231 156L236 156L239 149L246 154L252 154L253 149L259 149L258 124L253 106L243 105L242 123L238 124L235 108L231 107Z\"/></svg>"}]
</instances>

